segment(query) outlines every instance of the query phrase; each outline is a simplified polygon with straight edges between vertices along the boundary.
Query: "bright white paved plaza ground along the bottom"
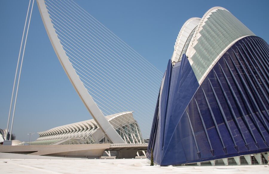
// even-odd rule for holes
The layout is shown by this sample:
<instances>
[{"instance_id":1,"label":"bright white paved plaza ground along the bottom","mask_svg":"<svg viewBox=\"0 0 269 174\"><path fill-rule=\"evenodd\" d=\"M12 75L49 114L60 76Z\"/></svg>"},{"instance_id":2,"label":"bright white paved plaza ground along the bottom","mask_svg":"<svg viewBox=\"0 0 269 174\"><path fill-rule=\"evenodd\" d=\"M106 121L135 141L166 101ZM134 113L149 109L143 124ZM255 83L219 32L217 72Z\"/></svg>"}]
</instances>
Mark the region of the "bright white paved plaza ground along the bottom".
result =
<instances>
[{"instance_id":1,"label":"bright white paved plaza ground along the bottom","mask_svg":"<svg viewBox=\"0 0 269 174\"><path fill-rule=\"evenodd\" d=\"M0 159L0 173L187 173L187 174L253 174L269 173L269 166L148 166L146 159Z\"/></svg>"}]
</instances>

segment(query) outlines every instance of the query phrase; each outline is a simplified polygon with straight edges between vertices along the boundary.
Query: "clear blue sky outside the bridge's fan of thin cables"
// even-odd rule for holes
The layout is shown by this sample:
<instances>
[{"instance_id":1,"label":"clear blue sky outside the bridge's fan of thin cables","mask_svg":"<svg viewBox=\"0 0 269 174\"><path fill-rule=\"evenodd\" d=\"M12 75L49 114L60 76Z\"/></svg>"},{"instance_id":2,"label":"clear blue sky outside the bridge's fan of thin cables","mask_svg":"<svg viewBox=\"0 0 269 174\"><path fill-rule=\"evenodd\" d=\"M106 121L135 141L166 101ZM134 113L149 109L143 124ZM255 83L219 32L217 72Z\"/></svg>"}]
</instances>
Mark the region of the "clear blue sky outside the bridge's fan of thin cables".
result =
<instances>
[{"instance_id":1,"label":"clear blue sky outside the bridge's fan of thin cables","mask_svg":"<svg viewBox=\"0 0 269 174\"><path fill-rule=\"evenodd\" d=\"M7 126L27 0L0 0L0 128ZM269 42L269 1L88 1L77 3L164 72L183 23L214 6L229 10ZM48 39L37 4L33 9L13 133L21 141L38 132L91 119ZM36 133L37 134L37 133ZM35 140L38 135L33 136Z\"/></svg>"}]
</instances>

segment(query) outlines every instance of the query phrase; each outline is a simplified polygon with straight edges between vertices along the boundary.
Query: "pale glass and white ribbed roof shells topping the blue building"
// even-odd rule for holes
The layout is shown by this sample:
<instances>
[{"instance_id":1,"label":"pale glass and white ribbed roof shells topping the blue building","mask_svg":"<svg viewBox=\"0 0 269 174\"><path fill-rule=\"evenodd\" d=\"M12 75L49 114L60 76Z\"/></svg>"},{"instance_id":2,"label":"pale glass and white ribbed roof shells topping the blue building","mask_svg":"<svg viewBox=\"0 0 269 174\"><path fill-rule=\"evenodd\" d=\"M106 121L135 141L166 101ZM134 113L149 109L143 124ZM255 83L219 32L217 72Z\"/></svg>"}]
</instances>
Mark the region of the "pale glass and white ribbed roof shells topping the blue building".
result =
<instances>
[{"instance_id":1,"label":"pale glass and white ribbed roof shells topping the blue building","mask_svg":"<svg viewBox=\"0 0 269 174\"><path fill-rule=\"evenodd\" d=\"M176 40L172 63L181 61L185 53L201 84L222 54L246 36L255 34L225 8L213 7L201 19L190 18L184 23Z\"/></svg>"}]
</instances>

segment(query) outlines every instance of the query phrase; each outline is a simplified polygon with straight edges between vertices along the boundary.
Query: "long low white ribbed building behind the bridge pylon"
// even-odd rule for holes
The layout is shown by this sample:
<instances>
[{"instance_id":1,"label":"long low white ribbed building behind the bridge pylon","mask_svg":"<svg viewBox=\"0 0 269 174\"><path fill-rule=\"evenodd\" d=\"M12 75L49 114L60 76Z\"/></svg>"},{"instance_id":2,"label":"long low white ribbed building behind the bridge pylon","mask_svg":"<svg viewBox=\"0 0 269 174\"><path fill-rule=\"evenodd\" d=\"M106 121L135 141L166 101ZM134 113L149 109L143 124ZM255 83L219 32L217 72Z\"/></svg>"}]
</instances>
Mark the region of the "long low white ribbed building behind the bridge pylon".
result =
<instances>
[{"instance_id":1,"label":"long low white ribbed building behind the bridge pylon","mask_svg":"<svg viewBox=\"0 0 269 174\"><path fill-rule=\"evenodd\" d=\"M132 112L108 115L106 118L126 143L144 142L140 128L135 119L132 117ZM93 119L59 126L47 131L38 132L38 134L40 137L35 142L32 142L32 145L69 143L92 144L109 142L106 138L106 134L103 134L103 131Z\"/></svg>"}]
</instances>

